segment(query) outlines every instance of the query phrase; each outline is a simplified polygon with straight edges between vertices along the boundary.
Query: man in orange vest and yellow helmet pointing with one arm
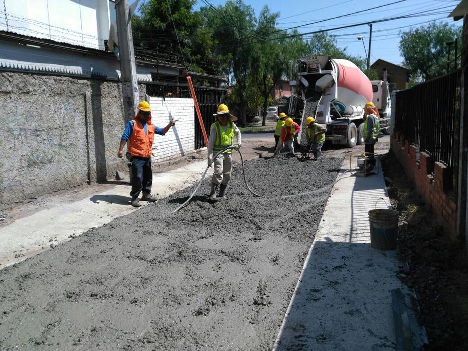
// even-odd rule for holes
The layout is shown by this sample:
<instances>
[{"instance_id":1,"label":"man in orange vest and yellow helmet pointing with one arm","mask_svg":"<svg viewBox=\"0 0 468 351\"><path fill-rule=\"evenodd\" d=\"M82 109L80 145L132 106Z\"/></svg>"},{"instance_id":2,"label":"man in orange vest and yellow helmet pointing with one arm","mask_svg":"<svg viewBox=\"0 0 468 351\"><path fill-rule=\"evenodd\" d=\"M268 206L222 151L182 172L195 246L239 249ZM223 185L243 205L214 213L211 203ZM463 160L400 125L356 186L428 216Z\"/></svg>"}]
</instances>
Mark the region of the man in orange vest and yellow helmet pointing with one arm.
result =
<instances>
[{"instance_id":1,"label":"man in orange vest and yellow helmet pointing with one arm","mask_svg":"<svg viewBox=\"0 0 468 351\"><path fill-rule=\"evenodd\" d=\"M154 134L164 135L175 124L176 122L173 120L164 128L151 124L151 108L146 101L141 101L138 104L135 118L125 126L117 156L123 157L123 148L128 141L129 167L131 167L132 174L130 180L132 206L140 206L138 196L141 192L143 193L142 201L156 201L156 198L151 195L153 179L151 156Z\"/></svg>"}]
</instances>

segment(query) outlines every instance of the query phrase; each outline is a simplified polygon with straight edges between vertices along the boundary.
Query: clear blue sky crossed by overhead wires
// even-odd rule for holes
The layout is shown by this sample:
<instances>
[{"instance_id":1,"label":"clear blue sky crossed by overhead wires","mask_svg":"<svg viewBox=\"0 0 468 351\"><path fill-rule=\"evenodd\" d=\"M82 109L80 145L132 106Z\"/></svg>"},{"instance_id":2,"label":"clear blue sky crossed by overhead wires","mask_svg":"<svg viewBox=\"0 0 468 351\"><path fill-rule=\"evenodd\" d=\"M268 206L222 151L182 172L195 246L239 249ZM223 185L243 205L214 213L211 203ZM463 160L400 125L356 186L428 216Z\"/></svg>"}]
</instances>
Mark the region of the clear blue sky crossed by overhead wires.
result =
<instances>
[{"instance_id":1,"label":"clear blue sky crossed by overhead wires","mask_svg":"<svg viewBox=\"0 0 468 351\"><path fill-rule=\"evenodd\" d=\"M244 3L252 6L257 16L265 4L272 12L279 12L280 17L277 21L277 27L281 29L357 12L350 16L299 27L298 30L301 33L384 18L414 15L414 17L410 18L373 24L371 64L377 59L383 59L395 64L402 63L403 58L398 48L400 30L405 31L410 29L411 26L426 25L433 20L448 22L456 26L462 25L462 20L454 22L452 18L447 18L459 3L459 0L400 0L396 4L363 11L394 3L395 1L398 0L244 0ZM213 6L217 6L223 5L225 0L210 0L209 2ZM206 5L202 0L198 0L195 10L198 10L201 6ZM425 13L418 14L421 12ZM330 31L329 34L337 35L338 46L347 48L349 54L366 57L369 44L369 26L367 24ZM362 36L364 46L363 41L357 39L358 35Z\"/></svg>"}]
</instances>

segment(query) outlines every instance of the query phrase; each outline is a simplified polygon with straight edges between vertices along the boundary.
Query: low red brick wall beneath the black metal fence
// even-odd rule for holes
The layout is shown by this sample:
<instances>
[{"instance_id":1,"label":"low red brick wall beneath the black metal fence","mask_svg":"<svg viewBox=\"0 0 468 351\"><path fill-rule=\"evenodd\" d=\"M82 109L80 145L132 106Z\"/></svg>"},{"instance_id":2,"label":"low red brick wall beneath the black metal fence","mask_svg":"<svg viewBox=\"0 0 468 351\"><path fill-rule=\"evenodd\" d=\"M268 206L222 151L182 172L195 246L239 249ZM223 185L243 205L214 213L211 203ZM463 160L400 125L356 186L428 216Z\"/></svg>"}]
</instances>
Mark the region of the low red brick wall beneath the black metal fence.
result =
<instances>
[{"instance_id":1,"label":"low red brick wall beneath the black metal fence","mask_svg":"<svg viewBox=\"0 0 468 351\"><path fill-rule=\"evenodd\" d=\"M440 162L434 163L434 173L430 165L434 160L425 153L419 153L416 146L410 145L404 135L393 133L392 151L405 168L405 172L416 186L417 192L429 204L438 221L453 234L456 233L456 199L449 195L453 179L453 169Z\"/></svg>"}]
</instances>

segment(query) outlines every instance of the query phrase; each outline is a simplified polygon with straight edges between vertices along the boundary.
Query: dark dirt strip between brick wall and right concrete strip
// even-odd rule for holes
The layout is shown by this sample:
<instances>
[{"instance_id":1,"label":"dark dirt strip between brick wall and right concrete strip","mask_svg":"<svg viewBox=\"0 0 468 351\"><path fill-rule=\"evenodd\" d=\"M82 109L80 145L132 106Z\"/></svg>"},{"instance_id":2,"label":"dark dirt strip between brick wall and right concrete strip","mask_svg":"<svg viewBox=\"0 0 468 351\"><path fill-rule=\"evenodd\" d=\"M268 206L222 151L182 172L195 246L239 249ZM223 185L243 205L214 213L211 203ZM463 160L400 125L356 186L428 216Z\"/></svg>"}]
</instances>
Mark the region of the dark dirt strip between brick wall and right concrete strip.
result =
<instances>
[{"instance_id":1,"label":"dark dirt strip between brick wall and right concrete strip","mask_svg":"<svg viewBox=\"0 0 468 351\"><path fill-rule=\"evenodd\" d=\"M429 344L427 350L468 349L468 266L463 242L450 240L392 153L382 158L388 195L400 211L399 249Z\"/></svg>"}]
</instances>

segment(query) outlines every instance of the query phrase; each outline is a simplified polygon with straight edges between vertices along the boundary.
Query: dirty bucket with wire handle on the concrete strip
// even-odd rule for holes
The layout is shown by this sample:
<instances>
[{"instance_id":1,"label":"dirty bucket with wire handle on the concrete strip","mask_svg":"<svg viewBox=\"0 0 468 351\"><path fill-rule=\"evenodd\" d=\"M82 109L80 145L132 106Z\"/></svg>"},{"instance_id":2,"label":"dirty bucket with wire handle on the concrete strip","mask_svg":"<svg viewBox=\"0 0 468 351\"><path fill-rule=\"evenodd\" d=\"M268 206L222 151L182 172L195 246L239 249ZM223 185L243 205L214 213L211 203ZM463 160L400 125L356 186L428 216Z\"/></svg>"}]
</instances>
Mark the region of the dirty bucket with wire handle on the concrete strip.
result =
<instances>
[{"instance_id":1,"label":"dirty bucket with wire handle on the concrete strip","mask_svg":"<svg viewBox=\"0 0 468 351\"><path fill-rule=\"evenodd\" d=\"M369 211L371 246L374 249L396 249L398 215L399 212L392 209L375 209Z\"/></svg>"}]
</instances>

